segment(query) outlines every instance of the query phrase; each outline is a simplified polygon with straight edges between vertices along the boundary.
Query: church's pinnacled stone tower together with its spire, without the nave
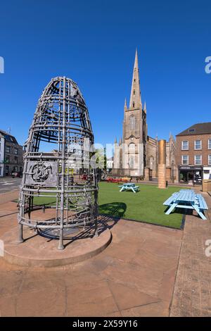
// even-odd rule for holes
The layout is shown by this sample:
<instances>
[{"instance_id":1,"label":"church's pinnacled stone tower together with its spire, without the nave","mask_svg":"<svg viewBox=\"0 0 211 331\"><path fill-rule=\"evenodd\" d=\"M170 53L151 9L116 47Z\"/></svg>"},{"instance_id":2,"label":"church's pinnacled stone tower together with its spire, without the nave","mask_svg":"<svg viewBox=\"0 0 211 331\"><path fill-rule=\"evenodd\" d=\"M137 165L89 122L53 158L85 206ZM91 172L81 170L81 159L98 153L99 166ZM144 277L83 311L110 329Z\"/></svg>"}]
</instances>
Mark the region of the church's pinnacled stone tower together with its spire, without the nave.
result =
<instances>
[{"instance_id":1,"label":"church's pinnacled stone tower together with its spire, without the nave","mask_svg":"<svg viewBox=\"0 0 211 331\"><path fill-rule=\"evenodd\" d=\"M136 50L129 108L127 108L125 99L123 139L120 139L119 144L115 142L113 173L116 175L143 176L146 165L146 142L146 104L144 104L144 107L142 106L138 53Z\"/></svg>"}]
</instances>

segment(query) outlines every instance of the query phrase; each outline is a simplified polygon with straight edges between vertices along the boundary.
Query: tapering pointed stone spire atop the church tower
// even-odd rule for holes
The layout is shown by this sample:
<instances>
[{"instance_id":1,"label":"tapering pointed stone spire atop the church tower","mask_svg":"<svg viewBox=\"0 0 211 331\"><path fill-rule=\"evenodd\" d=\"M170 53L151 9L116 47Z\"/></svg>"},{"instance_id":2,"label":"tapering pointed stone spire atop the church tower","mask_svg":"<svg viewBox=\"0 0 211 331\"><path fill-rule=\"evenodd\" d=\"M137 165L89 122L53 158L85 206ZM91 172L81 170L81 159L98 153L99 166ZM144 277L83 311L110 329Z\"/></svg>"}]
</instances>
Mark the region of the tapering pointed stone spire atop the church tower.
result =
<instances>
[{"instance_id":1,"label":"tapering pointed stone spire atop the church tower","mask_svg":"<svg viewBox=\"0 0 211 331\"><path fill-rule=\"evenodd\" d=\"M132 88L131 88L131 94L129 100L129 108L142 109L137 49L136 49L136 56L134 61L134 73L133 73Z\"/></svg>"}]
</instances>

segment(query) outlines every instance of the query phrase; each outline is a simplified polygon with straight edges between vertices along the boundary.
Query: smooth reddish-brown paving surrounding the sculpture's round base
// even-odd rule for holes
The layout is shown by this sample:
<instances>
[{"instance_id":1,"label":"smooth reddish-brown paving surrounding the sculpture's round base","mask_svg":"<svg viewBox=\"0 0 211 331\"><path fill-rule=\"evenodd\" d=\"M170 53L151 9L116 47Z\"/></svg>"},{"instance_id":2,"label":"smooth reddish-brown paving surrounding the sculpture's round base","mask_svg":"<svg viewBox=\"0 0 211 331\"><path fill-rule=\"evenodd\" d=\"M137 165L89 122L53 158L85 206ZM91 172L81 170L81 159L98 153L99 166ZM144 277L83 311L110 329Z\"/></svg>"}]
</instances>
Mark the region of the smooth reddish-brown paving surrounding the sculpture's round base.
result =
<instances>
[{"instance_id":1,"label":"smooth reddish-brown paving surrounding the sculpture's round base","mask_svg":"<svg viewBox=\"0 0 211 331\"><path fill-rule=\"evenodd\" d=\"M0 316L169 316L182 231L105 221L113 241L87 261L28 268L0 258ZM16 225L15 214L1 217L0 239Z\"/></svg>"}]
</instances>

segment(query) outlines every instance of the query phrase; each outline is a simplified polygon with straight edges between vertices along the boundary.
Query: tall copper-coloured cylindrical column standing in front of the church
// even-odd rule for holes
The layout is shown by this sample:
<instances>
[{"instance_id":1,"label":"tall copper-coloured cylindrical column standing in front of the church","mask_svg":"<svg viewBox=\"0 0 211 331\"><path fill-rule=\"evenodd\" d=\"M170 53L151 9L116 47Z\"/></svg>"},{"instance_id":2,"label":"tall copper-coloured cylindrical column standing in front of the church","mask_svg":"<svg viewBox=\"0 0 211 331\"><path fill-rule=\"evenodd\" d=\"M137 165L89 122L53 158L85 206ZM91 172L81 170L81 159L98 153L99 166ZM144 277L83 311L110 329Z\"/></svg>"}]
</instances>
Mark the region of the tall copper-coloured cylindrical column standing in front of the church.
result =
<instances>
[{"instance_id":1,"label":"tall copper-coloured cylindrical column standing in front of the church","mask_svg":"<svg viewBox=\"0 0 211 331\"><path fill-rule=\"evenodd\" d=\"M158 144L158 188L166 188L166 141L160 140Z\"/></svg>"}]
</instances>

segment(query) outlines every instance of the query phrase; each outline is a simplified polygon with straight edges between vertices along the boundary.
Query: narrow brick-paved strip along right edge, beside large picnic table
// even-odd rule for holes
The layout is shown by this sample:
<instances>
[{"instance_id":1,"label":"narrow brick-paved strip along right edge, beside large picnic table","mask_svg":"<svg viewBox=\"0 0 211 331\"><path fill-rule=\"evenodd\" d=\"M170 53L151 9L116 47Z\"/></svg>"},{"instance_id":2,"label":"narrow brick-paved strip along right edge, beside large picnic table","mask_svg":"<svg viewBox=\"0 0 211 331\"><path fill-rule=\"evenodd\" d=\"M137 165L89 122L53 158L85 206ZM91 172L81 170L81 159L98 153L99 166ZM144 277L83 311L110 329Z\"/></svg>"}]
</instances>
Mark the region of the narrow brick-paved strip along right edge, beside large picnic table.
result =
<instances>
[{"instance_id":1,"label":"narrow brick-paved strip along right edge, beside large picnic table","mask_svg":"<svg viewBox=\"0 0 211 331\"><path fill-rule=\"evenodd\" d=\"M211 240L211 196L203 196L207 220L186 217L170 316L211 316L211 256L205 255L205 242Z\"/></svg>"}]
</instances>

